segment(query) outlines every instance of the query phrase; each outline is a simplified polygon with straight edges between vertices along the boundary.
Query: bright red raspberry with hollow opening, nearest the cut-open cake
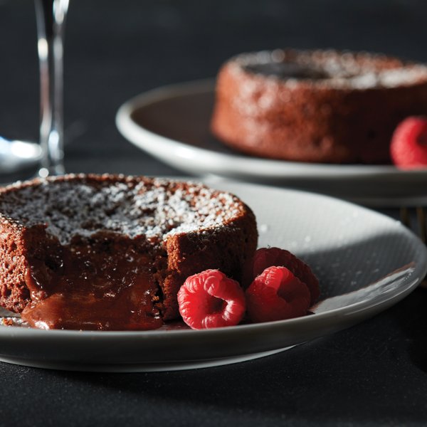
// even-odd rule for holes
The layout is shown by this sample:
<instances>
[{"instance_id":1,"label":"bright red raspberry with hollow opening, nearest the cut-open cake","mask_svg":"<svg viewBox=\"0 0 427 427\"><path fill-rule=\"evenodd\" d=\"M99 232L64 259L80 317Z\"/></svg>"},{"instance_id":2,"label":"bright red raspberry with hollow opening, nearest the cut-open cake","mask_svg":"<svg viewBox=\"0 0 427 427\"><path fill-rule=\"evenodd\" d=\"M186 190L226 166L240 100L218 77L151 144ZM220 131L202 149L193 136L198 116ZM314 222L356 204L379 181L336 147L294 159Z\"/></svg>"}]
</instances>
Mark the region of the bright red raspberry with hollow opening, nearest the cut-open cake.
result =
<instances>
[{"instance_id":1,"label":"bright red raspberry with hollow opening, nearest the cut-open cake","mask_svg":"<svg viewBox=\"0 0 427 427\"><path fill-rule=\"evenodd\" d=\"M192 329L237 325L246 310L241 286L218 270L187 278L179 289L178 304L182 319Z\"/></svg>"}]
</instances>

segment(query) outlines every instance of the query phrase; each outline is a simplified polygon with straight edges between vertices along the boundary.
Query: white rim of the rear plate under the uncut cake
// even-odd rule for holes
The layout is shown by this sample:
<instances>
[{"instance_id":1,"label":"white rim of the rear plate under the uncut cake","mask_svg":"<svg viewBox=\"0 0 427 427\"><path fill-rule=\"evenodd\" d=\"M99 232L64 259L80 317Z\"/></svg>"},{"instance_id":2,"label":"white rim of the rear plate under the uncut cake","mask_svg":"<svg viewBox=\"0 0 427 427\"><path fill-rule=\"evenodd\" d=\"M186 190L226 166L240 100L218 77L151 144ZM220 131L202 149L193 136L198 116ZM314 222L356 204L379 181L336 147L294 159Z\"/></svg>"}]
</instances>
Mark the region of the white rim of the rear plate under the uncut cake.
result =
<instances>
[{"instance_id":1,"label":"white rim of the rear plate under the uncut cake","mask_svg":"<svg viewBox=\"0 0 427 427\"><path fill-rule=\"evenodd\" d=\"M427 169L401 170L393 165L312 164L221 153L164 137L142 127L132 119L132 114L135 111L162 100L201 93L213 93L214 83L215 79L213 78L191 80L184 83L163 85L135 95L118 108L115 115L117 129L123 137L135 146L178 169L182 169L179 165L181 161L185 160L193 162L196 170L199 171L206 172L206 170L210 170L211 173L221 175L224 167L233 167L238 174L241 174L247 173L248 168L250 168L251 174L255 177L274 179L297 177L301 180L334 180L337 177L339 179L367 179L378 176L427 176ZM171 150L174 154L173 156L164 155L165 152L170 153ZM223 166L221 168L213 167L212 157L217 159ZM179 159L179 162L176 159ZM306 169L305 173L302 173L301 169Z\"/></svg>"}]
</instances>

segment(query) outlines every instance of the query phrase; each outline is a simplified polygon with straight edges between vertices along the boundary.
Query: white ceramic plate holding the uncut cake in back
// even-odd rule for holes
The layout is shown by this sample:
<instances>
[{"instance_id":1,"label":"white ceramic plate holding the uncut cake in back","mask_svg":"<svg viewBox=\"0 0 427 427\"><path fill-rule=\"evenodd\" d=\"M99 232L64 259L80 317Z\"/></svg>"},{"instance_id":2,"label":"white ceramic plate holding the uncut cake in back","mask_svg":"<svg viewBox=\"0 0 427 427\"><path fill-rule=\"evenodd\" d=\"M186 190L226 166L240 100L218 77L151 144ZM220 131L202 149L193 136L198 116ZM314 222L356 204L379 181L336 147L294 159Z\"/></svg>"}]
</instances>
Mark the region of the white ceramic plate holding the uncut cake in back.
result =
<instances>
[{"instance_id":1,"label":"white ceramic plate holding the uncut cake in back","mask_svg":"<svg viewBox=\"0 0 427 427\"><path fill-rule=\"evenodd\" d=\"M216 174L263 184L320 191L357 201L426 196L427 169L390 165L284 162L240 154L209 131L214 82L170 85L139 95L117 112L120 132L137 147L186 173ZM399 202L400 203L400 202Z\"/></svg>"}]
</instances>

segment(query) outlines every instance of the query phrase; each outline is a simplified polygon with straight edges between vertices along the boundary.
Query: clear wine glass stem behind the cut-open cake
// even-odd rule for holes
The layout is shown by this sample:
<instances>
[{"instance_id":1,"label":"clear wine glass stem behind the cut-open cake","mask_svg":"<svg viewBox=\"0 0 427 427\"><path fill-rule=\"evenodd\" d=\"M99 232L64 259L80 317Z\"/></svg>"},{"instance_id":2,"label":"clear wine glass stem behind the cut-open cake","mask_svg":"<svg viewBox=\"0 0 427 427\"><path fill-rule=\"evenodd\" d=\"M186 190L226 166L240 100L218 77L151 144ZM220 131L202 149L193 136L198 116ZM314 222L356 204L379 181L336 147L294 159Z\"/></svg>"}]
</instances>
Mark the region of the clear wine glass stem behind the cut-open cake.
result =
<instances>
[{"instance_id":1,"label":"clear wine glass stem behind the cut-open cake","mask_svg":"<svg viewBox=\"0 0 427 427\"><path fill-rule=\"evenodd\" d=\"M35 0L40 66L39 176L63 174L63 34L68 0Z\"/></svg>"}]
</instances>

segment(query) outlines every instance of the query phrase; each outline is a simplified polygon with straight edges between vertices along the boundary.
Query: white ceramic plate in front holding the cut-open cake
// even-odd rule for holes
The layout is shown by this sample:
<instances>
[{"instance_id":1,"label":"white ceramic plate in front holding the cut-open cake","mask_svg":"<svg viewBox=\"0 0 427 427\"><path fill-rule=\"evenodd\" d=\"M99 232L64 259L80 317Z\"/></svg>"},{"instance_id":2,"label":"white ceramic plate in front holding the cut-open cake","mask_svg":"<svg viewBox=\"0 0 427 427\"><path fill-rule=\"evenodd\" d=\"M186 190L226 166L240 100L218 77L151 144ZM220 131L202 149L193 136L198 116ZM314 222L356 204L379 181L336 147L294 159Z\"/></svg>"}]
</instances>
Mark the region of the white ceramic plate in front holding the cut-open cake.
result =
<instances>
[{"instance_id":1,"label":"white ceramic plate in front holding the cut-open cake","mask_svg":"<svg viewBox=\"0 0 427 427\"><path fill-rule=\"evenodd\" d=\"M89 371L161 371L262 357L385 310L426 274L427 250L401 223L302 191L221 184L255 212L260 246L300 255L320 278L315 314L216 330L78 332L0 327L0 360Z\"/></svg>"}]
</instances>

